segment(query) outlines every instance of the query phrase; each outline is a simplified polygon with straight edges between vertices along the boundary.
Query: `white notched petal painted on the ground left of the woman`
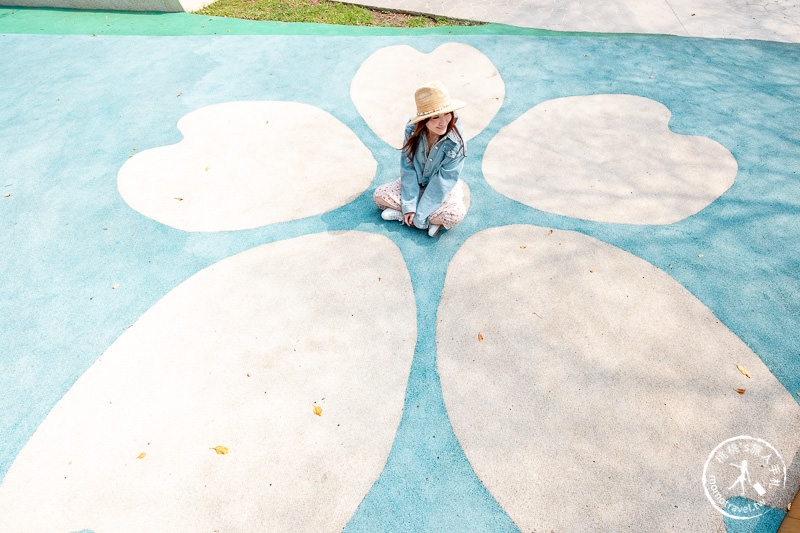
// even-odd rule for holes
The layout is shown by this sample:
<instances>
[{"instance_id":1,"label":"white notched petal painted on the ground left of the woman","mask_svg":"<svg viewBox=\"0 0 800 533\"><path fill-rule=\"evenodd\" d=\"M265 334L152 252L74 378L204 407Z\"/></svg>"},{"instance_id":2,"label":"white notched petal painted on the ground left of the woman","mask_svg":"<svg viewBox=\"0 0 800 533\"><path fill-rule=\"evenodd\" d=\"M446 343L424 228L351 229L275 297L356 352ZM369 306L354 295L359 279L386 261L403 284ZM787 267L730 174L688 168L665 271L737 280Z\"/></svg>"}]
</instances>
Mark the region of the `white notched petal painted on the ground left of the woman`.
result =
<instances>
[{"instance_id":1,"label":"white notched petal painted on the ground left of the woman","mask_svg":"<svg viewBox=\"0 0 800 533\"><path fill-rule=\"evenodd\" d=\"M333 115L295 102L230 102L178 121L184 139L119 171L136 211L186 231L248 229L317 215L366 190L377 162Z\"/></svg>"}]
</instances>

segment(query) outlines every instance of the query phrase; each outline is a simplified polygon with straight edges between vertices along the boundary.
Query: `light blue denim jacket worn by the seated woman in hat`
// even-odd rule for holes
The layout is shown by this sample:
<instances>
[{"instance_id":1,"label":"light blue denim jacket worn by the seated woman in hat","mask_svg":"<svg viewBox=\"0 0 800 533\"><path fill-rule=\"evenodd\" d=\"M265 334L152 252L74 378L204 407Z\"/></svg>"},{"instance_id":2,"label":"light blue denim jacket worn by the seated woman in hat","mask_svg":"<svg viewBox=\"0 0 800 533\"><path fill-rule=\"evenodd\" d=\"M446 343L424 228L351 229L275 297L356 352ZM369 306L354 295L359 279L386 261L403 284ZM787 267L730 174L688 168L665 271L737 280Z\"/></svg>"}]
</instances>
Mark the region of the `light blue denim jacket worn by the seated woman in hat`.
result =
<instances>
[{"instance_id":1,"label":"light blue denim jacket worn by the seated woman in hat","mask_svg":"<svg viewBox=\"0 0 800 533\"><path fill-rule=\"evenodd\" d=\"M415 124L406 126L404 139L414 132ZM405 140L403 141L405 143ZM400 154L400 199L405 213L416 213L414 225L428 227L428 217L442 205L458 183L464 168L464 146L455 131L439 139L427 156L428 141L420 135L417 153L410 163L405 152Z\"/></svg>"}]
</instances>

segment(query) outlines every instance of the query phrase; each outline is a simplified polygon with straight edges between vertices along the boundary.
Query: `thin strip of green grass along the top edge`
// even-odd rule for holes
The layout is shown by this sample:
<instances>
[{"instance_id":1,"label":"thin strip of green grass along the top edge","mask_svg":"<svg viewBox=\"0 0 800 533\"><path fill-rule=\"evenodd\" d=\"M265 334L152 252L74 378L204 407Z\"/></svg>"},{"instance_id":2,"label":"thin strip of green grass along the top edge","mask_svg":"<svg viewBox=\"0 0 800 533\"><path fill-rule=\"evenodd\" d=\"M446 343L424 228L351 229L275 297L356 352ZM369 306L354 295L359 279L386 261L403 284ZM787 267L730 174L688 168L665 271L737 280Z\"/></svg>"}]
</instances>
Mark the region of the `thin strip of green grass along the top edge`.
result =
<instances>
[{"instance_id":1,"label":"thin strip of green grass along the top edge","mask_svg":"<svg viewBox=\"0 0 800 533\"><path fill-rule=\"evenodd\" d=\"M218 0L196 11L200 15L276 22L313 22L348 26L432 28L479 26L481 22L400 13L330 0Z\"/></svg>"}]
</instances>

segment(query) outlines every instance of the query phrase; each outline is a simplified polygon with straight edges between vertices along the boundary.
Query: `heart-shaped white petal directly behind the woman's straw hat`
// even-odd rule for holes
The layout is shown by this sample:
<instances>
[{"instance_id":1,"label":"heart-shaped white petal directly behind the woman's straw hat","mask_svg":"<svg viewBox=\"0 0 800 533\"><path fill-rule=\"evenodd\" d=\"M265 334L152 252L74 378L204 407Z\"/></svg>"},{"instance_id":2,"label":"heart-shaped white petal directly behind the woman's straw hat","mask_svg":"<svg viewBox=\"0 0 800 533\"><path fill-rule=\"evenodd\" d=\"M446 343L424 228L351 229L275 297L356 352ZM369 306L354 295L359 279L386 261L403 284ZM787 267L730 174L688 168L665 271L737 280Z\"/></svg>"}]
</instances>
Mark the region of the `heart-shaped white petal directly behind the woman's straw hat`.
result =
<instances>
[{"instance_id":1,"label":"heart-shaped white petal directly behind the woman's straw hat","mask_svg":"<svg viewBox=\"0 0 800 533\"><path fill-rule=\"evenodd\" d=\"M394 148L403 145L403 128L417 114L414 91L439 80L451 98L467 107L457 111L464 140L492 121L505 98L505 84L483 52L447 43L429 54L408 45L382 48L369 56L350 84L350 97L378 137Z\"/></svg>"}]
</instances>

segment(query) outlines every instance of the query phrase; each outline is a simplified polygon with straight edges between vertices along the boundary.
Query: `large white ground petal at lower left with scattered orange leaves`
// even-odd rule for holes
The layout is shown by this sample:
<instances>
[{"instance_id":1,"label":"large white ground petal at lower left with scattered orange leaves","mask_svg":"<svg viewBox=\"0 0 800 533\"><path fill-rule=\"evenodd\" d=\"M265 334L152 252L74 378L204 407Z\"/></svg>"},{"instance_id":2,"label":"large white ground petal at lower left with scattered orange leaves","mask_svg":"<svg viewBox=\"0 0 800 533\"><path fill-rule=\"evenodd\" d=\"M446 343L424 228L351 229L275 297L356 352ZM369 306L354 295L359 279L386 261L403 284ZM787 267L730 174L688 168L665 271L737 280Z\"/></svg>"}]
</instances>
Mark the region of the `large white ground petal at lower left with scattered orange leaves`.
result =
<instances>
[{"instance_id":1,"label":"large white ground petal at lower left with scattered orange leaves","mask_svg":"<svg viewBox=\"0 0 800 533\"><path fill-rule=\"evenodd\" d=\"M0 529L341 531L389 455L415 343L411 280L385 237L225 259L53 408L0 485Z\"/></svg>"}]
</instances>

